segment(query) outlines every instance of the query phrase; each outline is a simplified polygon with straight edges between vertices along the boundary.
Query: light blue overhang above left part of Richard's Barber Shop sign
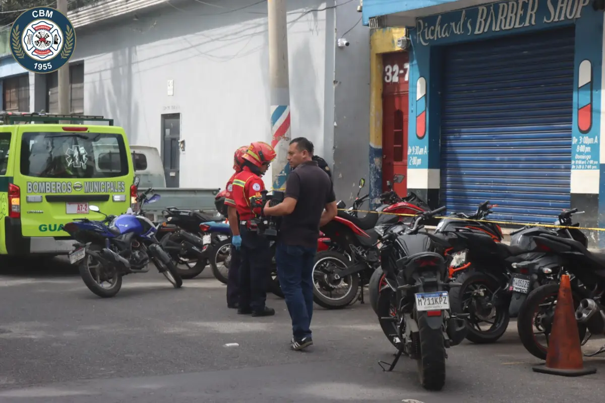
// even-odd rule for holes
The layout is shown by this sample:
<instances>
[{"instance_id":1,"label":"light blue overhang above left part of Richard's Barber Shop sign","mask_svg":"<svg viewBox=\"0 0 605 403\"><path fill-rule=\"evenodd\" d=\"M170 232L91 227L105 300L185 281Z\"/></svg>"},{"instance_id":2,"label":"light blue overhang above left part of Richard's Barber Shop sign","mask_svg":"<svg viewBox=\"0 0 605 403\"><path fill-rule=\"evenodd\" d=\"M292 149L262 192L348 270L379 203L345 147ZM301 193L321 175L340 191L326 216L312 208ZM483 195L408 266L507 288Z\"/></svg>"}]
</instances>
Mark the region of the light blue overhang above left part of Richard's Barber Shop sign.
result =
<instances>
[{"instance_id":1,"label":"light blue overhang above left part of Richard's Barber Shop sign","mask_svg":"<svg viewBox=\"0 0 605 403\"><path fill-rule=\"evenodd\" d=\"M370 18L383 16L384 27L414 27L416 18L496 1L500 0L365 0L363 22L369 25Z\"/></svg>"}]
</instances>

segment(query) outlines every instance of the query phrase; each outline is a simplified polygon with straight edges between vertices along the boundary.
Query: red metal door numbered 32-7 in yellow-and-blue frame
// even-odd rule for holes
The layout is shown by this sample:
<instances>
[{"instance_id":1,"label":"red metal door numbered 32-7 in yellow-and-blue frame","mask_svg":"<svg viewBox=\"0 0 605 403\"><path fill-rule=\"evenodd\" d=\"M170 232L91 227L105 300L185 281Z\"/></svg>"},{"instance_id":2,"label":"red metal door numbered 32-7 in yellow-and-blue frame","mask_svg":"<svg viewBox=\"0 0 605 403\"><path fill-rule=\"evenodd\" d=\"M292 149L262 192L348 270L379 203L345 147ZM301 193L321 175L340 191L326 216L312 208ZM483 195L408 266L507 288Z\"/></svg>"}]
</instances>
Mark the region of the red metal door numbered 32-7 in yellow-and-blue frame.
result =
<instances>
[{"instance_id":1,"label":"red metal door numbered 32-7 in yellow-and-blue frame","mask_svg":"<svg viewBox=\"0 0 605 403\"><path fill-rule=\"evenodd\" d=\"M382 189L397 173L408 170L408 71L409 56L404 52L383 56L382 87ZM394 184L398 195L407 195L407 178Z\"/></svg>"}]
</instances>

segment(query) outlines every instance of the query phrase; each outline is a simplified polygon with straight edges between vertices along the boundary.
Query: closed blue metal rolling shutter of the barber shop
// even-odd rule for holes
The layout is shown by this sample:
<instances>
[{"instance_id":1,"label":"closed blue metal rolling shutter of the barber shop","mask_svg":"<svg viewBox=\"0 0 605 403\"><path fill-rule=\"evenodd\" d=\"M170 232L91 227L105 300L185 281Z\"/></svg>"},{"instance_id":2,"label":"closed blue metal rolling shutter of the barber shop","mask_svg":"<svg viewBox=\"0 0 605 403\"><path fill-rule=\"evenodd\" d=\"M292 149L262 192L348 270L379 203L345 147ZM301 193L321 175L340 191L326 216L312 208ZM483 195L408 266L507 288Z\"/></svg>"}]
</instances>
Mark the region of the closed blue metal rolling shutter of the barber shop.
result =
<instances>
[{"instance_id":1,"label":"closed blue metal rolling shutter of the barber shop","mask_svg":"<svg viewBox=\"0 0 605 403\"><path fill-rule=\"evenodd\" d=\"M574 27L446 48L441 204L552 222L569 208Z\"/></svg>"}]
</instances>

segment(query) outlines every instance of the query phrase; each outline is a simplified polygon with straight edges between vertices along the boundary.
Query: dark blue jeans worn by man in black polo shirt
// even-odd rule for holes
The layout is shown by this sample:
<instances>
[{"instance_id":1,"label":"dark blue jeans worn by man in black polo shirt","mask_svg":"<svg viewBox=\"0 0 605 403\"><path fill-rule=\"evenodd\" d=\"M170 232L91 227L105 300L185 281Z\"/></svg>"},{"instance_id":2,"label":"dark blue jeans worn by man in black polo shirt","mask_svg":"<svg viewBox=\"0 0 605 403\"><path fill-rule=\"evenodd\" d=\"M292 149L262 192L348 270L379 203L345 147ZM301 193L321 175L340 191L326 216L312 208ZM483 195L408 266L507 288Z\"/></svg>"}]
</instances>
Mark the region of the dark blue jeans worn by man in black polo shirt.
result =
<instances>
[{"instance_id":1,"label":"dark blue jeans worn by man in black polo shirt","mask_svg":"<svg viewBox=\"0 0 605 403\"><path fill-rule=\"evenodd\" d=\"M292 333L297 340L311 335L313 316L313 260L316 248L284 245L275 249L277 277L292 318Z\"/></svg>"}]
</instances>

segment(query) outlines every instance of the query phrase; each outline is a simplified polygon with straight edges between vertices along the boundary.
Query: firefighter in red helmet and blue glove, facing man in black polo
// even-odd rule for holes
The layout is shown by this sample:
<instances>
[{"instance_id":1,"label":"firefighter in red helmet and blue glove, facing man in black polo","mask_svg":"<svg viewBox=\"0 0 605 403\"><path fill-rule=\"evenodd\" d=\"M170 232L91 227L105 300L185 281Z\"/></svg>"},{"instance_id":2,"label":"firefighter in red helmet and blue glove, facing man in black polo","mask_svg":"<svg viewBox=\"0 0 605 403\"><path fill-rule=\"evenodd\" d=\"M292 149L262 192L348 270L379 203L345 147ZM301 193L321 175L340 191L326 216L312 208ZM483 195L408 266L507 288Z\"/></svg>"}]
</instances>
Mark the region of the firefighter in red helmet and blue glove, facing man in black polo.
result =
<instances>
[{"instance_id":1,"label":"firefighter in red helmet and blue glove, facing man in black polo","mask_svg":"<svg viewBox=\"0 0 605 403\"><path fill-rule=\"evenodd\" d=\"M275 309L267 308L267 277L269 277L271 255L269 240L257 233L257 228L250 222L261 208L252 208L250 198L260 197L264 190L261 176L269 169L275 159L275 150L267 143L257 141L250 144L243 156L244 164L233 181L233 201L240 215L240 228L229 219L234 236L232 243L240 250L240 300L237 313L252 316L275 315ZM230 205L229 210L233 207ZM232 213L230 213L232 214Z\"/></svg>"}]
</instances>

